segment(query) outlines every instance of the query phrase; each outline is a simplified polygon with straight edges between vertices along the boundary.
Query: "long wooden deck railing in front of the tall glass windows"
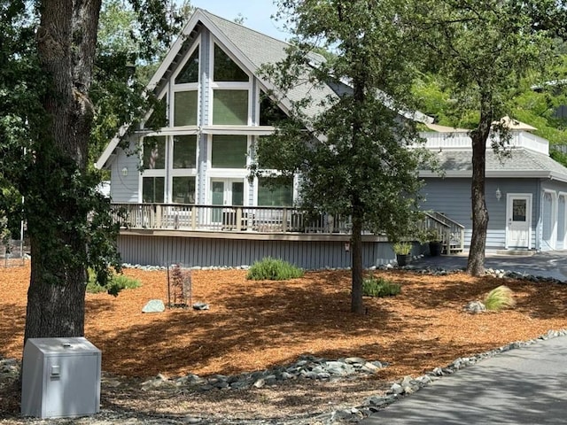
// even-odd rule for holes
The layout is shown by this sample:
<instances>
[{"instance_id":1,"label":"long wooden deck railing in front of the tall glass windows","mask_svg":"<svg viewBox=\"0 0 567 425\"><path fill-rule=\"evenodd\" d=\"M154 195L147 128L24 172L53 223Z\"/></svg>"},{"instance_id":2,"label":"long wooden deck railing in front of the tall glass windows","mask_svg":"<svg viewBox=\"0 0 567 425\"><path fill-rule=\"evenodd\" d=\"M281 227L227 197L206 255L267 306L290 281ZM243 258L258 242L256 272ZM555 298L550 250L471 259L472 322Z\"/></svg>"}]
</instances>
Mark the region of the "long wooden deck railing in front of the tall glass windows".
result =
<instances>
[{"instance_id":1,"label":"long wooden deck railing in front of the tall glass windows","mask_svg":"<svg viewBox=\"0 0 567 425\"><path fill-rule=\"evenodd\" d=\"M350 219L292 207L113 204L123 228L264 233L350 233Z\"/></svg>"}]
</instances>

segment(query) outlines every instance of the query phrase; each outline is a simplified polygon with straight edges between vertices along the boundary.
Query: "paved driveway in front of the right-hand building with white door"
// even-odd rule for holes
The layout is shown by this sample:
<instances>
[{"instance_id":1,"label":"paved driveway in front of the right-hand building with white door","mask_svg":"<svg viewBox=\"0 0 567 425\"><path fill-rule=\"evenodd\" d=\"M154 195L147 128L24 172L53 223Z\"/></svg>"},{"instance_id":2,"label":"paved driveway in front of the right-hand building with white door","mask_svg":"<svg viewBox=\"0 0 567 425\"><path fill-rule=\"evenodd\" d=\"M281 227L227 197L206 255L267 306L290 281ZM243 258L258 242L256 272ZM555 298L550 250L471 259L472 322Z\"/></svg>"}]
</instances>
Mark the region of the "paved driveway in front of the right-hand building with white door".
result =
<instances>
[{"instance_id":1,"label":"paved driveway in front of the right-hand building with white door","mask_svg":"<svg viewBox=\"0 0 567 425\"><path fill-rule=\"evenodd\" d=\"M417 267L442 267L448 270L459 269L467 267L467 256L423 257L423 259L413 261L412 265ZM485 267L553 277L562 282L567 282L567 251L539 252L527 256L486 254Z\"/></svg>"}]
</instances>

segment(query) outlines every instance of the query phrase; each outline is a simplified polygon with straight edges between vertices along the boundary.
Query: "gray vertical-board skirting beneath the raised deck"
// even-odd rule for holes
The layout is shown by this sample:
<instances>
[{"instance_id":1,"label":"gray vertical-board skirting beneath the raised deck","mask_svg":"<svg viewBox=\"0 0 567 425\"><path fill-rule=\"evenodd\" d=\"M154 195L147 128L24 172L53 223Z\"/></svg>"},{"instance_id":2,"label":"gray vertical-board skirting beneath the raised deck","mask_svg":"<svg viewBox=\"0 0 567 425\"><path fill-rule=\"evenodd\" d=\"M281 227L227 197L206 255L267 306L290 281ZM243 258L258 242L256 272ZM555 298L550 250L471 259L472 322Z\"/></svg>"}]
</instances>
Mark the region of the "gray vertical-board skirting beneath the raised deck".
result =
<instances>
[{"instance_id":1,"label":"gray vertical-board skirting beneath the raised deck","mask_svg":"<svg viewBox=\"0 0 567 425\"><path fill-rule=\"evenodd\" d=\"M179 236L121 235L118 248L129 264L183 267L240 267L272 257L307 270L351 267L351 252L343 241L276 241ZM395 259L390 243L363 243L363 267Z\"/></svg>"}]
</instances>

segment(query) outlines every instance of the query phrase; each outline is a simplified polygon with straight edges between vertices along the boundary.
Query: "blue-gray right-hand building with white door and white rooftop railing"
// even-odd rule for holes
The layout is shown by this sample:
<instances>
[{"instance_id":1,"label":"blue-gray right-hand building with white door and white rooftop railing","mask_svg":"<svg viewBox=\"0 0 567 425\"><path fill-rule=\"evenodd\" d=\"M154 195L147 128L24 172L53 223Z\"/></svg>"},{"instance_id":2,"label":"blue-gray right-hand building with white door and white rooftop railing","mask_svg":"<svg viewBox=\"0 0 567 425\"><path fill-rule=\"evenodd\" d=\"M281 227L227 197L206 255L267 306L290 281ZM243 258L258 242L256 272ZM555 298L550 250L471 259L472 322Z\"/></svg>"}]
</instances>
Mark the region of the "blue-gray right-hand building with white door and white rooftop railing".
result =
<instances>
[{"instance_id":1,"label":"blue-gray right-hand building with white door and white rooftop railing","mask_svg":"<svg viewBox=\"0 0 567 425\"><path fill-rule=\"evenodd\" d=\"M432 126L435 128L435 126ZM506 155L486 149L485 199L489 221L487 251L567 249L567 168L549 157L549 143L531 126L509 121ZM435 128L426 147L437 152L444 176L422 171L423 209L445 213L464 228L470 245L472 220L471 140L467 130Z\"/></svg>"}]
</instances>

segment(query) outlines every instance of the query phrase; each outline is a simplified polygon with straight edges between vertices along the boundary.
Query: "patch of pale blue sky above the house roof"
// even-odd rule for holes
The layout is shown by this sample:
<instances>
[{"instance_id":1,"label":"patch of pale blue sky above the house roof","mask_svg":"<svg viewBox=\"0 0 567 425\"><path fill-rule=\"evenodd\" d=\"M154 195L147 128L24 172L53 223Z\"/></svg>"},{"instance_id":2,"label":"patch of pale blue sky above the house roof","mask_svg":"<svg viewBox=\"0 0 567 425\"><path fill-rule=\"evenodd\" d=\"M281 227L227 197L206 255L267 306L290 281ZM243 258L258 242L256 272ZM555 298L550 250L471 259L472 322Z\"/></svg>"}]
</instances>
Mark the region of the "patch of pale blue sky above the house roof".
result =
<instances>
[{"instance_id":1,"label":"patch of pale blue sky above the house roof","mask_svg":"<svg viewBox=\"0 0 567 425\"><path fill-rule=\"evenodd\" d=\"M190 4L229 20L238 18L240 13L245 18L245 27L278 40L286 41L289 38L288 34L278 29L282 24L270 19L277 12L272 0L190 0Z\"/></svg>"}]
</instances>

